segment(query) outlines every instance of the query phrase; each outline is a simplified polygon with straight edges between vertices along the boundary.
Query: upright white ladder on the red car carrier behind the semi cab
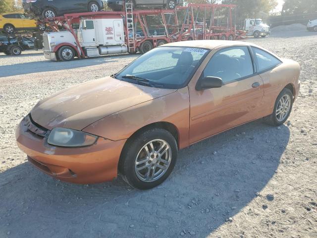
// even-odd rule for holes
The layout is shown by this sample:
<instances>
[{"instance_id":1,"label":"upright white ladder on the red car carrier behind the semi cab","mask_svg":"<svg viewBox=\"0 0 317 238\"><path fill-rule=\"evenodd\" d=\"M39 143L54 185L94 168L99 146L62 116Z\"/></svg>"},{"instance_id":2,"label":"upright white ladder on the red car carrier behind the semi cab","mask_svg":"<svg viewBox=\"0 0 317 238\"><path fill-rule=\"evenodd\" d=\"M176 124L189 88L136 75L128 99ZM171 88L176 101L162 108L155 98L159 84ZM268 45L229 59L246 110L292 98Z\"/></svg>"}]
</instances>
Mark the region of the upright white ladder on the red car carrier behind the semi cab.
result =
<instances>
[{"instance_id":1,"label":"upright white ladder on the red car carrier behind the semi cab","mask_svg":"<svg viewBox=\"0 0 317 238\"><path fill-rule=\"evenodd\" d=\"M128 0L125 2L125 16L127 26L127 39L128 39L128 50L130 53L135 53L135 34L134 34L134 21L133 21L133 2Z\"/></svg>"}]
</instances>

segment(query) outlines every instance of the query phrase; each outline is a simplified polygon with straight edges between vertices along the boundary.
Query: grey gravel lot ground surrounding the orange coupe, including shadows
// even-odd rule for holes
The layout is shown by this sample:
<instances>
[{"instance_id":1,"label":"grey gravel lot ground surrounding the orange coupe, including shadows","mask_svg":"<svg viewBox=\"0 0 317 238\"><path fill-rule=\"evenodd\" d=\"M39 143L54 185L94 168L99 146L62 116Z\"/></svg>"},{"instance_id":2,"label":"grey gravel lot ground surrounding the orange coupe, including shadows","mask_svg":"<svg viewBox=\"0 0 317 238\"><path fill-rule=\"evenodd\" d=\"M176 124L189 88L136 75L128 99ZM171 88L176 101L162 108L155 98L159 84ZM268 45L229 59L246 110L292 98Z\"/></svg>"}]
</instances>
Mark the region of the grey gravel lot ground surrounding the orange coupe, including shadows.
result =
<instances>
[{"instance_id":1,"label":"grey gravel lot ground surrounding the orange coupe, including shadows","mask_svg":"<svg viewBox=\"0 0 317 238\"><path fill-rule=\"evenodd\" d=\"M184 149L171 176L148 191L121 179L52 179L26 162L14 137L40 99L114 73L138 55L65 63L41 52L0 54L0 238L316 238L317 35L274 34L250 41L302 66L289 122L254 121Z\"/></svg>"}]
</instances>

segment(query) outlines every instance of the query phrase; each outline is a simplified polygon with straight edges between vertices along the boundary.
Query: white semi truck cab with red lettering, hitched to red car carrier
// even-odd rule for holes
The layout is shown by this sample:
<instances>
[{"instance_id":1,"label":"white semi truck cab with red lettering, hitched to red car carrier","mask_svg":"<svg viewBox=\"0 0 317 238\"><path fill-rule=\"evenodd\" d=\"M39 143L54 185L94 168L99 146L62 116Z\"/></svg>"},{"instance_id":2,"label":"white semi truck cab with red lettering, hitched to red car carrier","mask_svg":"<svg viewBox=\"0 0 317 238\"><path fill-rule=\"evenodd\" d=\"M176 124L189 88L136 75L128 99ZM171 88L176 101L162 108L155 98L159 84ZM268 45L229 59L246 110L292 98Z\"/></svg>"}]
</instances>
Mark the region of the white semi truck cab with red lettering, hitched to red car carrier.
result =
<instances>
[{"instance_id":1,"label":"white semi truck cab with red lettering, hitched to red car carrier","mask_svg":"<svg viewBox=\"0 0 317 238\"><path fill-rule=\"evenodd\" d=\"M79 29L73 30L77 39L70 29L43 33L44 56L49 60L70 61L74 57L126 53L123 27L120 15L81 17Z\"/></svg>"}]
</instances>

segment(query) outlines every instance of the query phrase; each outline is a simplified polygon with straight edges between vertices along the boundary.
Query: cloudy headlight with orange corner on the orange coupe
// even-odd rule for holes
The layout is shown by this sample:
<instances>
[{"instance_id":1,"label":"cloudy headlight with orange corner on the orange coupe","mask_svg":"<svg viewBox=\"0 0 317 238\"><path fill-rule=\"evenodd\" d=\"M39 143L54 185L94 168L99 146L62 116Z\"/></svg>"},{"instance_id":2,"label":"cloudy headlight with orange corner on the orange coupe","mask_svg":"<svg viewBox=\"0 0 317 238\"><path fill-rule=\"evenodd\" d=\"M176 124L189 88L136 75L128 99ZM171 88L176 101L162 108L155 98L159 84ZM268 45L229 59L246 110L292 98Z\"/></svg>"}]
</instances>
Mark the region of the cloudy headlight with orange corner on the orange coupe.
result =
<instances>
[{"instance_id":1,"label":"cloudy headlight with orange corner on the orange coupe","mask_svg":"<svg viewBox=\"0 0 317 238\"><path fill-rule=\"evenodd\" d=\"M92 145L98 136L69 128L56 127L51 131L48 143L63 147L80 147Z\"/></svg>"}]
</instances>

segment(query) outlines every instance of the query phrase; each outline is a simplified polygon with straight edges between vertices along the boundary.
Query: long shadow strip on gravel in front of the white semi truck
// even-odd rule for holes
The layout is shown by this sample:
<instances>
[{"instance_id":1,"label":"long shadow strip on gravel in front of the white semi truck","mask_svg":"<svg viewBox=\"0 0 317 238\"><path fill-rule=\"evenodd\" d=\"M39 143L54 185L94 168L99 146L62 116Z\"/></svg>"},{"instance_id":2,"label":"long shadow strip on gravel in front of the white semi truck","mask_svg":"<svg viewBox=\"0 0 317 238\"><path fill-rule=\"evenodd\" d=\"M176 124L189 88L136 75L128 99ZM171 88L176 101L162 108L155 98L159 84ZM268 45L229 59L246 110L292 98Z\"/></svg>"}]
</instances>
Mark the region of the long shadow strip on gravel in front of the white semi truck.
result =
<instances>
[{"instance_id":1,"label":"long shadow strip on gravel in front of the white semi truck","mask_svg":"<svg viewBox=\"0 0 317 238\"><path fill-rule=\"evenodd\" d=\"M32 54L32 56L33 55L34 54ZM87 66L93 66L93 65L103 64L103 63L116 62L118 60L123 60L127 58L137 58L139 56L140 54L131 54L131 55L125 54L125 55L116 55L116 56L96 57L96 58L83 59L83 60L75 59L69 62L41 60L41 61L27 62L27 63L16 63L16 64L0 66L0 77L87 67ZM9 58L13 56L5 56L5 57ZM17 57L20 57L20 56L17 56Z\"/></svg>"}]
</instances>

